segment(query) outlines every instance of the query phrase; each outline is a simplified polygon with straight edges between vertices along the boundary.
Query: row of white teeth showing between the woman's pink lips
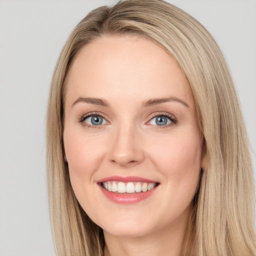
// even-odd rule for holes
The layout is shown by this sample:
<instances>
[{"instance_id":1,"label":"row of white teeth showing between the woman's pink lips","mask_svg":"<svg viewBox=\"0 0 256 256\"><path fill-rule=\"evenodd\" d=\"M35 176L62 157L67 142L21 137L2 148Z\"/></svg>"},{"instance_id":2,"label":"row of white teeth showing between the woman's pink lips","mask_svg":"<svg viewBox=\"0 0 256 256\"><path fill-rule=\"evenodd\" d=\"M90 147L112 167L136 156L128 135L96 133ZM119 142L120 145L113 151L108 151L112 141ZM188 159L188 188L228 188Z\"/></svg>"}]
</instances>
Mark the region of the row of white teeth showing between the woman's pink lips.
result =
<instances>
[{"instance_id":1,"label":"row of white teeth showing between the woman's pink lips","mask_svg":"<svg viewBox=\"0 0 256 256\"><path fill-rule=\"evenodd\" d=\"M110 192L115 192L120 194L146 192L153 189L158 184L159 183L155 183L155 182L121 182L121 181L101 182L101 186L104 189Z\"/></svg>"}]
</instances>

